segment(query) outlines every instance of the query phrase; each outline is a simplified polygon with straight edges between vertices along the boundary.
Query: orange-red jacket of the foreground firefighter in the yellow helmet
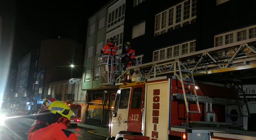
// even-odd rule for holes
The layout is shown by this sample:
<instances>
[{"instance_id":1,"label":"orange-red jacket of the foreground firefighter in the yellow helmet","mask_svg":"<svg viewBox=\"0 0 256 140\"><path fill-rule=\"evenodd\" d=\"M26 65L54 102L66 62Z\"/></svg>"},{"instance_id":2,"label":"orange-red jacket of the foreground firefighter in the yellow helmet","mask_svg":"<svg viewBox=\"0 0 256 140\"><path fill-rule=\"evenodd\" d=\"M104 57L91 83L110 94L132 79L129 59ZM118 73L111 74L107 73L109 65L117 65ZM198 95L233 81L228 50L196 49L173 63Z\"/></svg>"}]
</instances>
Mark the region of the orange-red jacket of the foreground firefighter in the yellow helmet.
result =
<instances>
[{"instance_id":1,"label":"orange-red jacket of the foreground firefighter in the yellow helmet","mask_svg":"<svg viewBox=\"0 0 256 140\"><path fill-rule=\"evenodd\" d=\"M36 117L36 121L28 132L28 140L77 140L76 134L66 130L68 123L64 123L65 118L46 112L43 111L44 115Z\"/></svg>"}]
</instances>

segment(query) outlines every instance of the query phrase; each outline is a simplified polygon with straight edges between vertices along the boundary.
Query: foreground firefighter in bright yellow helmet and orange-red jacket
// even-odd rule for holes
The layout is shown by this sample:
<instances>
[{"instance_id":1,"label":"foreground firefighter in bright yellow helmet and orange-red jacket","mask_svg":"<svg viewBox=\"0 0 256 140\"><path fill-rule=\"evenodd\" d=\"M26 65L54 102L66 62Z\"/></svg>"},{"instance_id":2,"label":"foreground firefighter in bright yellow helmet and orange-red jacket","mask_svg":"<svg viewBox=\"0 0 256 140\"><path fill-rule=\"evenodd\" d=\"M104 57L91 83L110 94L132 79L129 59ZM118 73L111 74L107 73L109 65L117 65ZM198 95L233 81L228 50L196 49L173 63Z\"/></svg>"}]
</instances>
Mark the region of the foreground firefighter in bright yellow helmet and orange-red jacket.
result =
<instances>
[{"instance_id":1,"label":"foreground firefighter in bright yellow helmet and orange-red jacket","mask_svg":"<svg viewBox=\"0 0 256 140\"><path fill-rule=\"evenodd\" d=\"M52 102L48 110L36 116L29 130L28 140L77 140L76 134L67 129L72 111L61 101Z\"/></svg>"}]
</instances>

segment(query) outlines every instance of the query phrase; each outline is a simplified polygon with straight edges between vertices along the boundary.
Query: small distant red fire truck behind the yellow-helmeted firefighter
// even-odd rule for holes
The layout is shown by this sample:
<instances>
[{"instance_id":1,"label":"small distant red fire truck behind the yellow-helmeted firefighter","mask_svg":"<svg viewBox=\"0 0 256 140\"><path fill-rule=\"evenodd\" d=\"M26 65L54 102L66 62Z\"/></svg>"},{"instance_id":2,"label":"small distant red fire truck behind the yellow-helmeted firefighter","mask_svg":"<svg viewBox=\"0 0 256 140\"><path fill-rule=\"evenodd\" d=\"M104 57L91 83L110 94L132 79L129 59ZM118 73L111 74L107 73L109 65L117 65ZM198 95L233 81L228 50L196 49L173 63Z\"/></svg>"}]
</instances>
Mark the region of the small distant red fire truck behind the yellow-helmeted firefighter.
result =
<instances>
[{"instance_id":1,"label":"small distant red fire truck behind the yellow-helmeted firefighter","mask_svg":"<svg viewBox=\"0 0 256 140\"><path fill-rule=\"evenodd\" d=\"M68 104L70 109L73 111L73 115L70 117L70 125L77 126L78 123L81 123L81 109L82 105L78 104Z\"/></svg>"}]
</instances>

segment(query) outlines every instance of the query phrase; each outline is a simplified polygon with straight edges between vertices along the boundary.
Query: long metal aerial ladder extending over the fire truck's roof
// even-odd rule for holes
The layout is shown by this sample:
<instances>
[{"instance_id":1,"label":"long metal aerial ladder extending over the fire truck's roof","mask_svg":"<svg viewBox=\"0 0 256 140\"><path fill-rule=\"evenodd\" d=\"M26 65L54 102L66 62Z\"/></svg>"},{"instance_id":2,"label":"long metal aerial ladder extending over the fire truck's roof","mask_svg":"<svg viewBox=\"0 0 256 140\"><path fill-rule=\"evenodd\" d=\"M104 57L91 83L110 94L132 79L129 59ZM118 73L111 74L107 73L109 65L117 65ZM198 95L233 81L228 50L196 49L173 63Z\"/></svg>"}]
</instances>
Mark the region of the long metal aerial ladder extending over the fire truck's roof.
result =
<instances>
[{"instance_id":1,"label":"long metal aerial ladder extending over the fire truck's roof","mask_svg":"<svg viewBox=\"0 0 256 140\"><path fill-rule=\"evenodd\" d=\"M141 81L145 81L148 78L173 74L182 84L187 112L200 113L196 88L194 87L193 96L187 96L184 89L185 84L195 86L194 77L196 77L197 80L201 81L234 85L234 80L256 78L255 70L256 38L252 38L220 47L213 47L202 51L132 66L126 68L126 70L116 78L115 82L116 85L121 85L125 75L132 74L132 72L133 74L136 73ZM238 89L238 94L244 95L242 86L232 87ZM194 98L193 100L196 101L197 104L197 111L190 111L188 109L187 98ZM246 99L244 99L244 101L248 110L248 116L250 116ZM239 101L238 106L241 107ZM239 111L240 116L248 117L244 116L240 109Z\"/></svg>"}]
</instances>

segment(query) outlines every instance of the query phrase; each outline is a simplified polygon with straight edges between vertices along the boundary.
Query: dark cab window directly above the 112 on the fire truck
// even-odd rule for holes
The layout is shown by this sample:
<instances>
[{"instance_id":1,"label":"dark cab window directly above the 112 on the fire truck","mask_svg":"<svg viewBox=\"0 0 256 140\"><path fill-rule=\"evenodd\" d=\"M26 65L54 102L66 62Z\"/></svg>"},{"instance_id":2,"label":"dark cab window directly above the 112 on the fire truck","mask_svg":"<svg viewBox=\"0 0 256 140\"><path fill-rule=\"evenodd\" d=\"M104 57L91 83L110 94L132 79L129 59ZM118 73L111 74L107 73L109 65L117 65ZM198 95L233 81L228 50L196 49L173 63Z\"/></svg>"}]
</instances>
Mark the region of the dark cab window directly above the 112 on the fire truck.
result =
<instances>
[{"instance_id":1,"label":"dark cab window directly above the 112 on the fire truck","mask_svg":"<svg viewBox=\"0 0 256 140\"><path fill-rule=\"evenodd\" d=\"M142 98L142 88L134 88L132 94L132 109L139 109Z\"/></svg>"}]
</instances>

